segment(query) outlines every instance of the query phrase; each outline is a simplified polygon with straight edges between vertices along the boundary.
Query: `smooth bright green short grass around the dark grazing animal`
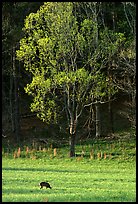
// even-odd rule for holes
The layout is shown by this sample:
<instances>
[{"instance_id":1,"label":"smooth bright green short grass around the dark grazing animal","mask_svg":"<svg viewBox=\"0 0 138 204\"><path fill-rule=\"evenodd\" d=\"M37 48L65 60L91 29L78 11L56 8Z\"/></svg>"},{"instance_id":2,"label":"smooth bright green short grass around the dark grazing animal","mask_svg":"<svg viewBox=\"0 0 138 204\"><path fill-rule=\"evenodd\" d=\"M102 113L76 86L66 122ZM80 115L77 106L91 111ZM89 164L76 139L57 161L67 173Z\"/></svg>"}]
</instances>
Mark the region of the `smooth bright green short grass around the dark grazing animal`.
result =
<instances>
[{"instance_id":1,"label":"smooth bright green short grass around the dark grazing animal","mask_svg":"<svg viewBox=\"0 0 138 204\"><path fill-rule=\"evenodd\" d=\"M134 202L135 160L3 158L3 202ZM49 181L52 189L40 189Z\"/></svg>"}]
</instances>

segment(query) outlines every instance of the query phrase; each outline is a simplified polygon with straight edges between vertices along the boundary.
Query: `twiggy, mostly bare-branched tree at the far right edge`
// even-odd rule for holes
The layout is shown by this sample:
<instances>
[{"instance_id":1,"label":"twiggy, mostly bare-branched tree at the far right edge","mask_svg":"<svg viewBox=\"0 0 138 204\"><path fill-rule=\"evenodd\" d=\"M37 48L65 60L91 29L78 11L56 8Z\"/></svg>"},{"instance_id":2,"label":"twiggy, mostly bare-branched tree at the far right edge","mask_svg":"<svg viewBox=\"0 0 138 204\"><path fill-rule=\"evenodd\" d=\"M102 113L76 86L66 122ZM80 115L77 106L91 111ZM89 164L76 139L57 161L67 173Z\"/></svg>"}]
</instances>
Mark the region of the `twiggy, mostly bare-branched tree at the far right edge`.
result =
<instances>
[{"instance_id":1,"label":"twiggy, mostly bare-branched tree at the far right edge","mask_svg":"<svg viewBox=\"0 0 138 204\"><path fill-rule=\"evenodd\" d=\"M134 2L122 2L125 27L127 27L126 42L117 54L114 62L114 82L120 92L129 96L129 110L126 117L132 128L136 127L136 6ZM125 28L126 30L126 28ZM129 30L129 32L128 32ZM121 77L118 77L118 72Z\"/></svg>"}]
</instances>

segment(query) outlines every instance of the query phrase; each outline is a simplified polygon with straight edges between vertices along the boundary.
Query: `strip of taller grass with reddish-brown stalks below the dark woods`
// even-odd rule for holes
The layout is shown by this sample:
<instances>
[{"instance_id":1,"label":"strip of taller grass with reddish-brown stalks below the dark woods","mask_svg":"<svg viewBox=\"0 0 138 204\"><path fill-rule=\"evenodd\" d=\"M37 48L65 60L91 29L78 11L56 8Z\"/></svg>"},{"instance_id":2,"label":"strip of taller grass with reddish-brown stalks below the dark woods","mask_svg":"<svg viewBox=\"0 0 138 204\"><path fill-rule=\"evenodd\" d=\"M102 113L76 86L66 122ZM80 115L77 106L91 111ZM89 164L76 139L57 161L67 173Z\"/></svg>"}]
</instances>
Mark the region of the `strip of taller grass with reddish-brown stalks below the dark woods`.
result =
<instances>
[{"instance_id":1,"label":"strip of taller grass with reddish-brown stalks below the dark woods","mask_svg":"<svg viewBox=\"0 0 138 204\"><path fill-rule=\"evenodd\" d=\"M87 143L76 145L76 156L78 160L82 158L89 159L134 159L136 155L135 138L131 140L96 140L87 141ZM4 149L2 151L3 157L8 158L68 158L69 147L64 146L54 148L52 145L49 147L38 146L22 146L11 149Z\"/></svg>"}]
</instances>

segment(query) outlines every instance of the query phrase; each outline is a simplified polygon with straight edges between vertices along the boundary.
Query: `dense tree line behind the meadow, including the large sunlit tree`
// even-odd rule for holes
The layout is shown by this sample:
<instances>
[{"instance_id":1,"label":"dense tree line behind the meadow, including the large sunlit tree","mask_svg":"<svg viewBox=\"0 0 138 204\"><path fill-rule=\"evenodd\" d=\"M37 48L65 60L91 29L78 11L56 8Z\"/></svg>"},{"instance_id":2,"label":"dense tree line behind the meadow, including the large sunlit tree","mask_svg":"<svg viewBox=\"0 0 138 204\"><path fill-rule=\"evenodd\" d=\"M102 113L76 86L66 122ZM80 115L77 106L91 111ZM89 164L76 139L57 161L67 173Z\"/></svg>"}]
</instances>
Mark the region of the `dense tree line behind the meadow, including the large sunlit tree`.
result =
<instances>
[{"instance_id":1,"label":"dense tree line behind the meadow, including the large sunlit tree","mask_svg":"<svg viewBox=\"0 0 138 204\"><path fill-rule=\"evenodd\" d=\"M95 111L99 137L101 107L108 103L113 131L112 101L119 93L130 97L135 124L135 9L133 2L3 3L3 127L19 139L21 86L44 122L66 118L70 156L86 110Z\"/></svg>"}]
</instances>

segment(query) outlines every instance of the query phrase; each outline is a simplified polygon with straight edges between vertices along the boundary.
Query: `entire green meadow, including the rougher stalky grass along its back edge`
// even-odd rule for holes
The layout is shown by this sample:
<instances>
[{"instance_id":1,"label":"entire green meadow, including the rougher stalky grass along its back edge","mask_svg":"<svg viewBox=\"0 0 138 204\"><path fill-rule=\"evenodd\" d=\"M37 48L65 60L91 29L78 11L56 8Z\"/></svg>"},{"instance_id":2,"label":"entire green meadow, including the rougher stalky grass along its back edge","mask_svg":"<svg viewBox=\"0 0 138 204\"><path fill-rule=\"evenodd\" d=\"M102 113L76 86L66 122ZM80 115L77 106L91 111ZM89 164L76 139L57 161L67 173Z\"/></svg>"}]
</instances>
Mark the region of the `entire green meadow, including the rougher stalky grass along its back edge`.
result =
<instances>
[{"instance_id":1,"label":"entire green meadow, including the rougher stalky grass along its back edge","mask_svg":"<svg viewBox=\"0 0 138 204\"><path fill-rule=\"evenodd\" d=\"M56 154L52 148L19 149L3 152L3 202L136 201L135 141L78 145L75 158L65 147ZM42 181L52 189L40 189Z\"/></svg>"}]
</instances>

